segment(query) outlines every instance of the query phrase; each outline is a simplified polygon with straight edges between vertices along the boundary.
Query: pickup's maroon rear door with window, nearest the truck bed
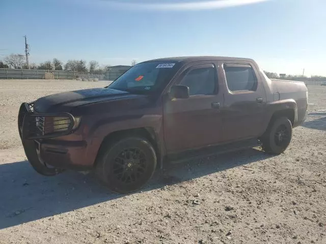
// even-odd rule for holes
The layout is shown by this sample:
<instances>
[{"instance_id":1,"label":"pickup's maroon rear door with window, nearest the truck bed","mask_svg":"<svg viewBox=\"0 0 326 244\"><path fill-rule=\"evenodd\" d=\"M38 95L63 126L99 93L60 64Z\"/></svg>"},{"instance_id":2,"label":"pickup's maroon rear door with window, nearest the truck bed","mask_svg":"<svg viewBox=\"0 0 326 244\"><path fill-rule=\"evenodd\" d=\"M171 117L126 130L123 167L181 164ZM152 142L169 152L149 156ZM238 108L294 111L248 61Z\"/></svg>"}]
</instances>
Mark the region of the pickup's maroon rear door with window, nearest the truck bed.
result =
<instances>
[{"instance_id":1,"label":"pickup's maroon rear door with window, nearest the truck bed","mask_svg":"<svg viewBox=\"0 0 326 244\"><path fill-rule=\"evenodd\" d=\"M246 62L221 62L224 79L225 141L258 137L263 128L266 94L256 67Z\"/></svg>"}]
</instances>

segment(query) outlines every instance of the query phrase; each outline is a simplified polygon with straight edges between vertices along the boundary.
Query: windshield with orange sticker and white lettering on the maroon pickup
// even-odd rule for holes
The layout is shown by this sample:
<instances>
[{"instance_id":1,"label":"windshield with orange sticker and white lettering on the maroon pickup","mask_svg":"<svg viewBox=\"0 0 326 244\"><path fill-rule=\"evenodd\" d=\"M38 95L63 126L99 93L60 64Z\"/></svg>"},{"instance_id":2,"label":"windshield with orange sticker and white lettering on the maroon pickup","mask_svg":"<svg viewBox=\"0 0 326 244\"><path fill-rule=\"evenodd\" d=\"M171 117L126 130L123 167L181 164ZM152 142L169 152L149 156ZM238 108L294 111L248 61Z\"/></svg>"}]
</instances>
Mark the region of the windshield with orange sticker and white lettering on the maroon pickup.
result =
<instances>
[{"instance_id":1,"label":"windshield with orange sticker and white lettering on the maroon pickup","mask_svg":"<svg viewBox=\"0 0 326 244\"><path fill-rule=\"evenodd\" d=\"M177 71L175 62L147 62L133 66L116 79L108 88L127 92L153 93L173 77Z\"/></svg>"}]
</instances>

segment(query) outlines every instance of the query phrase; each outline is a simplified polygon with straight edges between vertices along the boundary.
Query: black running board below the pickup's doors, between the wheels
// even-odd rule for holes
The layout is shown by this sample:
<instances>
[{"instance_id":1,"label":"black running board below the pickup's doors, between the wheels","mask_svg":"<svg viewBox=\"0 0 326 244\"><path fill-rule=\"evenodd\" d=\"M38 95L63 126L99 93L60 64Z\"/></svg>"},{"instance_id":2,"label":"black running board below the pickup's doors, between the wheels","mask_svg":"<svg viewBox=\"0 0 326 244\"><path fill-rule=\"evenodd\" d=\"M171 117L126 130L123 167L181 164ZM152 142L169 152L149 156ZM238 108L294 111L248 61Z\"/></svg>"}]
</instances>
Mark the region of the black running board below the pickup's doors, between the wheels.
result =
<instances>
[{"instance_id":1,"label":"black running board below the pickup's doors, between the wheels","mask_svg":"<svg viewBox=\"0 0 326 244\"><path fill-rule=\"evenodd\" d=\"M208 146L196 150L186 150L178 154L168 155L167 160L172 164L183 163L189 160L202 159L203 157L210 157L220 154L231 153L248 148L261 146L261 142L257 139L249 139L243 141L232 142L218 146Z\"/></svg>"}]
</instances>

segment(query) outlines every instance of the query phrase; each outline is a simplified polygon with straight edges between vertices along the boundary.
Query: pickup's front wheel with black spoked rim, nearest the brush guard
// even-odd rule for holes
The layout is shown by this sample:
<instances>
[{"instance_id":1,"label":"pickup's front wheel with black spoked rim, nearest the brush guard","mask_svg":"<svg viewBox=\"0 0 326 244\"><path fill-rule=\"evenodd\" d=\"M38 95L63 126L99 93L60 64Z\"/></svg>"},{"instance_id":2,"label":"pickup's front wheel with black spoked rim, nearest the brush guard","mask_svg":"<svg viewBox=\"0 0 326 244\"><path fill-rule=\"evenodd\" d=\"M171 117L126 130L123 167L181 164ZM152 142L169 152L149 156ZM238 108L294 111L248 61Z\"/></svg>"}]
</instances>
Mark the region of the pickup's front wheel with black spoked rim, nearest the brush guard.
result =
<instances>
[{"instance_id":1,"label":"pickup's front wheel with black spoked rim, nearest the brush guard","mask_svg":"<svg viewBox=\"0 0 326 244\"><path fill-rule=\"evenodd\" d=\"M101 148L96 174L111 191L130 193L147 183L156 164L155 150L147 139L125 137Z\"/></svg>"}]
</instances>

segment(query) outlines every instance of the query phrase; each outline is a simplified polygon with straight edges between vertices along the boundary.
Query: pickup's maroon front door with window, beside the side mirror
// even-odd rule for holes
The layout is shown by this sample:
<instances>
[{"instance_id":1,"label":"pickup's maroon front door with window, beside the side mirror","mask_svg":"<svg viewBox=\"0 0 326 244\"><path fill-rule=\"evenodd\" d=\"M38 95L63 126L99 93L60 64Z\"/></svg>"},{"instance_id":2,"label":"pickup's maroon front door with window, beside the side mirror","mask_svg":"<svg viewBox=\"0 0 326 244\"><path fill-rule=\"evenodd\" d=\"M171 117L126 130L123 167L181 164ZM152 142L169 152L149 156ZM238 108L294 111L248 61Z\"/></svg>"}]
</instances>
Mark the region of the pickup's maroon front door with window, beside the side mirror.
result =
<instances>
[{"instance_id":1,"label":"pickup's maroon front door with window, beside the side mirror","mask_svg":"<svg viewBox=\"0 0 326 244\"><path fill-rule=\"evenodd\" d=\"M188 99L165 97L164 132L168 154L219 144L222 138L219 92L215 64L198 64L184 69L174 85L189 87Z\"/></svg>"}]
</instances>

